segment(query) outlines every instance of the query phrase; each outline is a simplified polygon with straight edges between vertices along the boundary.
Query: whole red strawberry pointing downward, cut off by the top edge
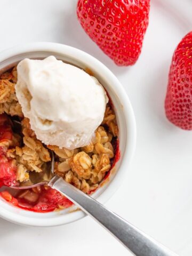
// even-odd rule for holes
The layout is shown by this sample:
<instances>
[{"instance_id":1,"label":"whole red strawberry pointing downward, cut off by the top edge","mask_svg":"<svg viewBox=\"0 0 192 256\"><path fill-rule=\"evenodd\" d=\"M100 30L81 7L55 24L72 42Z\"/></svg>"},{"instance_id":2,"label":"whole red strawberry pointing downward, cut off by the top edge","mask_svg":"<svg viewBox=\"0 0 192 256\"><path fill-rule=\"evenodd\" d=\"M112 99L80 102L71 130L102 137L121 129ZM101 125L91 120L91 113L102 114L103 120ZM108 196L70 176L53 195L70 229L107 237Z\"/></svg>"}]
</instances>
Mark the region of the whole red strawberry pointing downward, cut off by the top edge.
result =
<instances>
[{"instance_id":1,"label":"whole red strawberry pointing downward, cut off by the top edge","mask_svg":"<svg viewBox=\"0 0 192 256\"><path fill-rule=\"evenodd\" d=\"M142 47L150 0L78 0L78 19L118 66L133 65Z\"/></svg>"}]
</instances>

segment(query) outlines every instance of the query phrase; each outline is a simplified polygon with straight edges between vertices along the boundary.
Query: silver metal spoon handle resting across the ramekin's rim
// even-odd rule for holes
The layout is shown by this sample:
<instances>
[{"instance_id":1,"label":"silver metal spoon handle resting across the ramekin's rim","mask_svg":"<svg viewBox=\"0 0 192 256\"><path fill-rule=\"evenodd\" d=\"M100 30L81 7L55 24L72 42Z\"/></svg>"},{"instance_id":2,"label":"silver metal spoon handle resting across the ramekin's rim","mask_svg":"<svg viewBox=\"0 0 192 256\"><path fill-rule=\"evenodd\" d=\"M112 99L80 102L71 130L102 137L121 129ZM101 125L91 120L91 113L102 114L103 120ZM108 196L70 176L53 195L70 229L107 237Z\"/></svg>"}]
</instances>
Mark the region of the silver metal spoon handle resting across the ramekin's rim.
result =
<instances>
[{"instance_id":1,"label":"silver metal spoon handle resting across the ramekin's rim","mask_svg":"<svg viewBox=\"0 0 192 256\"><path fill-rule=\"evenodd\" d=\"M50 181L49 186L57 189L85 213L97 220L136 256L177 256L177 254L171 252L117 214L107 210L105 206L57 175Z\"/></svg>"}]
</instances>

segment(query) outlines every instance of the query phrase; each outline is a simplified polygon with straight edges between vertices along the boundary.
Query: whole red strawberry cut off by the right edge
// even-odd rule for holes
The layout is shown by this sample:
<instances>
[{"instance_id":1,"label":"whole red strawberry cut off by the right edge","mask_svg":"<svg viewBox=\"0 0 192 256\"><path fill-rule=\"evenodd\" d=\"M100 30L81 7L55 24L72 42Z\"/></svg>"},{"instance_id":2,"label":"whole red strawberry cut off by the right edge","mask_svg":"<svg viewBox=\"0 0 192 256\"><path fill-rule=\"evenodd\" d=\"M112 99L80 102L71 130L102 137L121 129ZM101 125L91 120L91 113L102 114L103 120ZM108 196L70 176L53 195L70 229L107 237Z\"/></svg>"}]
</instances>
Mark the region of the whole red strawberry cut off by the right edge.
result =
<instances>
[{"instance_id":1,"label":"whole red strawberry cut off by the right edge","mask_svg":"<svg viewBox=\"0 0 192 256\"><path fill-rule=\"evenodd\" d=\"M165 112L170 122L192 130L192 31L181 40L173 54Z\"/></svg>"}]
</instances>

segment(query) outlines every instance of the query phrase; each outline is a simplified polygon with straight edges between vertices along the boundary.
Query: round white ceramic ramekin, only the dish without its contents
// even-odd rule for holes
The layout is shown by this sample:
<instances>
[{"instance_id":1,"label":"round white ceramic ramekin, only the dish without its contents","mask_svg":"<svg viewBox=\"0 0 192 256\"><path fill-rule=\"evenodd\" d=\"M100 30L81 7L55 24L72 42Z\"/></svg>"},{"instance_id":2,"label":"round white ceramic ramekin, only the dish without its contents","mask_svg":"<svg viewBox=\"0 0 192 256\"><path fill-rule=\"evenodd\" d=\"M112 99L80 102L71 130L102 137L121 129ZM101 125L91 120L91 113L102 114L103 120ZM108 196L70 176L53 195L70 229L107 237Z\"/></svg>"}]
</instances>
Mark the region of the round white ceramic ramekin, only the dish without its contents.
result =
<instances>
[{"instance_id":1,"label":"round white ceramic ramekin, only the dish without its contents","mask_svg":"<svg viewBox=\"0 0 192 256\"><path fill-rule=\"evenodd\" d=\"M135 148L136 126L129 98L121 83L105 65L91 55L67 45L43 42L13 47L0 53L0 70L7 70L24 58L41 59L49 55L83 69L90 69L113 101L119 127L121 158L115 166L115 171L111 172L109 181L92 195L99 202L105 203L121 185L124 175L129 172ZM85 213L71 209L50 213L30 212L14 207L1 198L0 217L20 225L50 227L79 220L85 217Z\"/></svg>"}]
</instances>

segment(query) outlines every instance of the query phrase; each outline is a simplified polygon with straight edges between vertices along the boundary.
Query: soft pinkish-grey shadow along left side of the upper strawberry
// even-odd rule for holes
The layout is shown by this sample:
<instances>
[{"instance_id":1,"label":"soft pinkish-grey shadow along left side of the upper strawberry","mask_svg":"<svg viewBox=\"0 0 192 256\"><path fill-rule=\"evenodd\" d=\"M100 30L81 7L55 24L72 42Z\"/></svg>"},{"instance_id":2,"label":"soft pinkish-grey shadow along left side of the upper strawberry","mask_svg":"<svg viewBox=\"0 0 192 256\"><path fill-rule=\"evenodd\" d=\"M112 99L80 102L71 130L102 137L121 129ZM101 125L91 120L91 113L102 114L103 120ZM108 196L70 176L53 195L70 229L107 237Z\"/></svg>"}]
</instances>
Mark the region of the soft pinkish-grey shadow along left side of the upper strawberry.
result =
<instances>
[{"instance_id":1,"label":"soft pinkish-grey shadow along left side of the upper strawberry","mask_svg":"<svg viewBox=\"0 0 192 256\"><path fill-rule=\"evenodd\" d=\"M113 60L111 60L105 53L103 53L99 46L97 46L97 44L95 44L92 39L85 33L79 21L77 20L75 3L72 9L63 11L62 15L59 13L58 17L62 17L61 20L59 20L59 24L62 24L61 34L58 38L59 43L74 46L93 55L95 58L104 63L115 74L122 74L129 70L129 67L116 66Z\"/></svg>"}]
</instances>

